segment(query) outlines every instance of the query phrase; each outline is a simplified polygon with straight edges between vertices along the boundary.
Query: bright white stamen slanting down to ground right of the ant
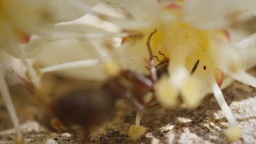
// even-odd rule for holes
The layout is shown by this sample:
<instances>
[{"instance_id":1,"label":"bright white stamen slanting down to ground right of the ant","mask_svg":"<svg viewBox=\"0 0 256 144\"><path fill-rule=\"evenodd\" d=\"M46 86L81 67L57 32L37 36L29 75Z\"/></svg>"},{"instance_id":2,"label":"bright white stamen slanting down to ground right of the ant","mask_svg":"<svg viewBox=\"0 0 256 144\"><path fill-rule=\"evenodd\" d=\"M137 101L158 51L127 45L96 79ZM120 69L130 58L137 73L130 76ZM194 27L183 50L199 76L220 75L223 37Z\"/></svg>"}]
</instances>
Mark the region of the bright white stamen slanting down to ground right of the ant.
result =
<instances>
[{"instance_id":1,"label":"bright white stamen slanting down to ground right of the ant","mask_svg":"<svg viewBox=\"0 0 256 144\"><path fill-rule=\"evenodd\" d=\"M211 87L212 87L214 97L218 101L218 104L219 104L220 108L222 109L222 112L224 113L226 119L228 119L229 123L231 124L231 127L237 127L236 119L232 115L232 112L229 109L228 104L226 104L226 100L224 99L222 91L220 91L218 83L214 79L214 76L212 73L209 76L210 76Z\"/></svg>"}]
</instances>

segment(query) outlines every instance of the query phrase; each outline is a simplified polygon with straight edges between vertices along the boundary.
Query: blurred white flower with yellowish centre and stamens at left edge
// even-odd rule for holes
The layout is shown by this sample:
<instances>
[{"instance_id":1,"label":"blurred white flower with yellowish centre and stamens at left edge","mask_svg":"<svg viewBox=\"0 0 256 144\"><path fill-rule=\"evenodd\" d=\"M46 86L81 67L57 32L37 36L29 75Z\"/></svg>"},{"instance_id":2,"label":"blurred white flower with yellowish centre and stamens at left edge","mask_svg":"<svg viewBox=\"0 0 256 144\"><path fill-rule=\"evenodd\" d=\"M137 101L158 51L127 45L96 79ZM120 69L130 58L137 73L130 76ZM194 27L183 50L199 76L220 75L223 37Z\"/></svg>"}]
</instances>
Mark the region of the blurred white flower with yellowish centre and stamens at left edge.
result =
<instances>
[{"instance_id":1,"label":"blurred white flower with yellowish centre and stamens at left edge","mask_svg":"<svg viewBox=\"0 0 256 144\"><path fill-rule=\"evenodd\" d=\"M93 2L91 4L93 5ZM10 71L11 73L13 71L22 73L21 69L16 70L18 68L17 64L19 63L19 66L22 64L19 60L15 59L13 61L13 59L6 55L9 54L21 59L35 85L40 87L40 81L37 79L38 74L30 65L27 58L36 55L45 41L60 38L60 35L56 36L56 33L64 33L77 37L75 35L77 32L71 31L71 28L57 29L55 26L56 22L74 20L85 14L85 11L75 8L70 7L67 1L0 1L0 91L10 113L11 120L13 121L18 135L18 141L21 140L22 134L13 103L10 99L5 75Z\"/></svg>"}]
</instances>

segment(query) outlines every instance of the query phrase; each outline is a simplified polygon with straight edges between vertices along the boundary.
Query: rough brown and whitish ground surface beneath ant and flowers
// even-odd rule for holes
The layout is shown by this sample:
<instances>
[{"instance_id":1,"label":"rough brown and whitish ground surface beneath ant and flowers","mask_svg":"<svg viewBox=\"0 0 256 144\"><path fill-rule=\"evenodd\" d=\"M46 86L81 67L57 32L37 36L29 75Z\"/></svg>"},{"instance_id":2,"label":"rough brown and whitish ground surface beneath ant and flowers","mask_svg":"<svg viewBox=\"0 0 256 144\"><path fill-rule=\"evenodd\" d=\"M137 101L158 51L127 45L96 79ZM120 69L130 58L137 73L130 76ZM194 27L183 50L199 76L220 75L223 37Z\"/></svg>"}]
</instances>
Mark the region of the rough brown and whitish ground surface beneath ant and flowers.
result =
<instances>
[{"instance_id":1,"label":"rough brown and whitish ground surface beneath ant and flowers","mask_svg":"<svg viewBox=\"0 0 256 144\"><path fill-rule=\"evenodd\" d=\"M256 69L251 70L256 76ZM54 83L55 93L72 82ZM59 83L59 84L58 84ZM48 86L51 86L50 84ZM50 125L50 116L44 107L24 90L24 87L12 87L15 107L25 131L28 143L78 143L85 137L81 134L69 136L56 133ZM223 91L243 133L237 143L256 142L256 88L241 82L233 82ZM46 98L45 98L46 99ZM213 95L207 95L196 110L179 107L176 110L164 110L155 107L145 113L142 125L148 130L137 142L127 135L131 124L135 123L136 113L124 104L117 107L115 116L102 127L95 128L89 135L89 143L228 143L224 132L229 127ZM14 135L9 115L0 100L0 143L14 143ZM10 130L8 130L10 129Z\"/></svg>"}]
</instances>

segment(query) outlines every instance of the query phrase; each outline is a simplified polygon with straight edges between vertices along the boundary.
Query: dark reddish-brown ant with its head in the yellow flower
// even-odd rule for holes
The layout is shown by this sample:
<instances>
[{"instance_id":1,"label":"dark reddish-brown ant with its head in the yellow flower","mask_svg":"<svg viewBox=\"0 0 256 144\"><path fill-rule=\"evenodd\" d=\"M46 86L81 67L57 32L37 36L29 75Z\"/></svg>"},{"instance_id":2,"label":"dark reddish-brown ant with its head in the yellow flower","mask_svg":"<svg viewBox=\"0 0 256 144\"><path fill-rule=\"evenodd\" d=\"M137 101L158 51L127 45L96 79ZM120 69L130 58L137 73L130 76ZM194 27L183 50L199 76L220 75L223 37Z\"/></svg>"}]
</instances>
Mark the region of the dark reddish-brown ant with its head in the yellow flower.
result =
<instances>
[{"instance_id":1,"label":"dark reddish-brown ant with its head in the yellow flower","mask_svg":"<svg viewBox=\"0 0 256 144\"><path fill-rule=\"evenodd\" d=\"M109 77L99 87L75 89L63 95L51 105L51 109L56 117L61 119L63 125L80 125L88 131L112 114L115 101L118 99L124 99L137 112L159 105L151 105L156 100L155 97L147 103L143 101L144 95L149 92L154 93L154 83L158 80L158 76L167 74L169 62L169 59L159 51L164 59L155 66L153 58L156 56L153 56L149 44L154 33L156 29L147 40L150 75L138 74L131 70L119 70L117 75ZM199 60L196 61L191 74L195 72L198 64ZM58 123L54 124L56 127L61 127Z\"/></svg>"}]
</instances>

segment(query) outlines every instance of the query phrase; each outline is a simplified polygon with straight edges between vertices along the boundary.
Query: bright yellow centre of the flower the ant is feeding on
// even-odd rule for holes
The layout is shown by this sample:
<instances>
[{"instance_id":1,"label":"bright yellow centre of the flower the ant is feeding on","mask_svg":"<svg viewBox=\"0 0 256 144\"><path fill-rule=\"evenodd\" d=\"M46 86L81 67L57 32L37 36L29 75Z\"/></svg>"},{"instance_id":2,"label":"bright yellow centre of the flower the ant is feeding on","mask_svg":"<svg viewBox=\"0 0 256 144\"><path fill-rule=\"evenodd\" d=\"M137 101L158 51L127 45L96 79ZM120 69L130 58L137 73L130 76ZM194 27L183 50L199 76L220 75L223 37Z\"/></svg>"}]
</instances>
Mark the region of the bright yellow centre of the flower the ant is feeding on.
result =
<instances>
[{"instance_id":1,"label":"bright yellow centre of the flower the ant is feeding on","mask_svg":"<svg viewBox=\"0 0 256 144\"><path fill-rule=\"evenodd\" d=\"M200 64L196 72L203 73L207 68L211 68L217 82L220 82L220 86L223 73L218 70L216 63L214 63L210 50L218 51L221 49L220 46L216 46L216 40L223 40L228 43L228 35L223 30L204 31L184 23L182 21L182 9L167 8L164 10L176 18L167 25L161 21L155 23L158 32L153 35L150 41L154 55L161 57L158 53L161 51L170 58L171 63L184 65L188 70L191 70L199 59Z\"/></svg>"}]
</instances>

